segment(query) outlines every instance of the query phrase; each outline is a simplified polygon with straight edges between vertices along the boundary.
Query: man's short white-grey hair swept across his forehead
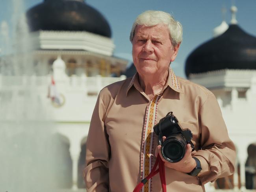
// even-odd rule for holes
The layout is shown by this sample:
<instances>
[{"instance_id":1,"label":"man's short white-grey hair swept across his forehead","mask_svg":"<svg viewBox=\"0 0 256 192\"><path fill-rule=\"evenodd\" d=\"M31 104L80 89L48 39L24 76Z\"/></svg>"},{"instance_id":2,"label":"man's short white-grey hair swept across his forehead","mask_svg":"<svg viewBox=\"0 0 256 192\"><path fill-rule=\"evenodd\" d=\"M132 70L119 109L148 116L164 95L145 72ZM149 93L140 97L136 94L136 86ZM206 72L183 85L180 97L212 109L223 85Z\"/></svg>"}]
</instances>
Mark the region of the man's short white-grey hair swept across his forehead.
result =
<instances>
[{"instance_id":1,"label":"man's short white-grey hair swept across his forehead","mask_svg":"<svg viewBox=\"0 0 256 192\"><path fill-rule=\"evenodd\" d=\"M137 25L145 25L147 27L156 26L158 24L166 25L173 46L177 46L182 42L182 25L176 21L172 15L163 11L145 11L141 13L134 21L130 33L130 41L134 39L135 28Z\"/></svg>"}]
</instances>

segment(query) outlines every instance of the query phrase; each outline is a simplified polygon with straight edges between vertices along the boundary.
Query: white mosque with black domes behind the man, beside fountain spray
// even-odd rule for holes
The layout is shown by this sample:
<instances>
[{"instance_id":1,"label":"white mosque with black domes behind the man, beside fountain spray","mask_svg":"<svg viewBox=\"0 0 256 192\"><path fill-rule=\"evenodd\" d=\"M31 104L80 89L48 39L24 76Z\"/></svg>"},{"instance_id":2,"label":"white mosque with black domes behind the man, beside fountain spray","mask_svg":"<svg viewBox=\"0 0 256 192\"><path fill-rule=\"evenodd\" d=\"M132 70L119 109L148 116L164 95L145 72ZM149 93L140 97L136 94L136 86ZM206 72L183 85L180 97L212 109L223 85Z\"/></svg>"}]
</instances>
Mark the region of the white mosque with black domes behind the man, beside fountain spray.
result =
<instances>
[{"instance_id":1,"label":"white mosque with black domes behind the man, beside fountain spray","mask_svg":"<svg viewBox=\"0 0 256 192\"><path fill-rule=\"evenodd\" d=\"M239 27L236 7L231 11L230 25L223 21L186 60L187 78L215 94L237 148L236 173L208 185L208 191L256 188L256 37ZM85 143L97 95L132 76L134 65L126 69L128 61L113 56L108 21L83 0L44 0L26 17L33 63L40 66L36 94L56 124L66 167L61 174L69 175L59 186L84 191ZM45 97L49 85L58 89L49 93L52 99Z\"/></svg>"}]
</instances>

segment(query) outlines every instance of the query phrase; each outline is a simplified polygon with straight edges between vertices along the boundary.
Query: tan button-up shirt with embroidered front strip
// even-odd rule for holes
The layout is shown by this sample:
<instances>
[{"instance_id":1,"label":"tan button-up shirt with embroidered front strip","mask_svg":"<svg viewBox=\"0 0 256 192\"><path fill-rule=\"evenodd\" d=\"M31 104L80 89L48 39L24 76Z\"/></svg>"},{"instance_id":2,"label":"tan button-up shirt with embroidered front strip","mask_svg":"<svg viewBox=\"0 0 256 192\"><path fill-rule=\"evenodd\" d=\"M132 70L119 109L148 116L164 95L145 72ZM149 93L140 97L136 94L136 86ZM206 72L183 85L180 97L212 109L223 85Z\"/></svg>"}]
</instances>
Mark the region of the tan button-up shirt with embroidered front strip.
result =
<instances>
[{"instance_id":1,"label":"tan button-up shirt with embroidered front strip","mask_svg":"<svg viewBox=\"0 0 256 192\"><path fill-rule=\"evenodd\" d=\"M234 172L235 147L215 96L176 78L170 69L162 92L152 100L143 92L138 74L100 91L87 138L88 192L132 192L156 160L158 139L152 127L170 111L192 131L192 156L200 160L202 171L195 177L165 167L167 191L204 191L203 184ZM160 192L159 174L142 191Z\"/></svg>"}]
</instances>

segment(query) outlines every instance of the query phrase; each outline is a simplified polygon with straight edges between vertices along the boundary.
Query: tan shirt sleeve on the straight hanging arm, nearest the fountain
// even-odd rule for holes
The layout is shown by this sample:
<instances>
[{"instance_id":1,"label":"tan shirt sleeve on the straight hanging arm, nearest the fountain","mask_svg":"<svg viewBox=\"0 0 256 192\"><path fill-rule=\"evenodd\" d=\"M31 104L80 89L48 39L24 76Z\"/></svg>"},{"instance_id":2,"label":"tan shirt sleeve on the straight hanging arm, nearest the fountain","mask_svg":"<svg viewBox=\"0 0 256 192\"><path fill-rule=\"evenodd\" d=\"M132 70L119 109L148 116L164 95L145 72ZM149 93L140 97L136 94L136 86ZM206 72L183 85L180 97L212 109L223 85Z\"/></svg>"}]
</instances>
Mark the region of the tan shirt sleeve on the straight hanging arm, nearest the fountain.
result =
<instances>
[{"instance_id":1,"label":"tan shirt sleeve on the straight hanging arm, nearest the fountain","mask_svg":"<svg viewBox=\"0 0 256 192\"><path fill-rule=\"evenodd\" d=\"M88 192L109 191L109 142L104 126L105 107L98 96L86 144L86 167L83 170Z\"/></svg>"}]
</instances>

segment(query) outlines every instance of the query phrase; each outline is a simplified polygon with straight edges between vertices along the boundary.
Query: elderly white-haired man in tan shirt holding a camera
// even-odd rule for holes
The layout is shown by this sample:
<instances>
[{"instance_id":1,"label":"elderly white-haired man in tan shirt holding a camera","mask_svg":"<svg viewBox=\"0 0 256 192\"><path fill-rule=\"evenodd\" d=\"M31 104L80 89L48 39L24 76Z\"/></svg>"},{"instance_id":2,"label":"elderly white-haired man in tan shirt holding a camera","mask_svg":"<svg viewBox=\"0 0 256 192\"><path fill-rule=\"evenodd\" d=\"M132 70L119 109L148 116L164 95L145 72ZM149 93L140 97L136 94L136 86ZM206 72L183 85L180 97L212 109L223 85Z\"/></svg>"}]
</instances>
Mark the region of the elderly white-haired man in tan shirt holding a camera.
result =
<instances>
[{"instance_id":1,"label":"elderly white-haired man in tan shirt holding a camera","mask_svg":"<svg viewBox=\"0 0 256 192\"><path fill-rule=\"evenodd\" d=\"M100 91L87 138L84 178L89 192L131 192L160 153L153 126L173 111L193 133L179 162L165 162L167 191L200 192L234 172L235 147L215 96L175 76L169 67L182 41L182 26L168 13L146 11L130 34L137 73ZM156 152L155 152L156 151ZM158 175L143 192L160 192Z\"/></svg>"}]
</instances>

